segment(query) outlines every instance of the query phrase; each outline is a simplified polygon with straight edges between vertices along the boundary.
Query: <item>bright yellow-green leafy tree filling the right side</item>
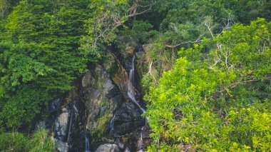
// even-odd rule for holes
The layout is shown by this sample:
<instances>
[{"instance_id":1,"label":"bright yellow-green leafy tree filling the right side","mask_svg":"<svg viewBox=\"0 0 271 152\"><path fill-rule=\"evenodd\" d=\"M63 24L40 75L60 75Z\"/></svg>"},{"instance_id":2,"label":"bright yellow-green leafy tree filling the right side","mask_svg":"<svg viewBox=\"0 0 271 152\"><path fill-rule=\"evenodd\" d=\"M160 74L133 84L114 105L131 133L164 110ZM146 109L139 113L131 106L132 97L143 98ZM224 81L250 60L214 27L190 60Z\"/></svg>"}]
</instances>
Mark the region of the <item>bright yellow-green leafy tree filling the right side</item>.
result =
<instances>
[{"instance_id":1,"label":"bright yellow-green leafy tree filling the right side","mask_svg":"<svg viewBox=\"0 0 271 152\"><path fill-rule=\"evenodd\" d=\"M270 151L270 31L258 19L181 49L145 96L148 150Z\"/></svg>"}]
</instances>

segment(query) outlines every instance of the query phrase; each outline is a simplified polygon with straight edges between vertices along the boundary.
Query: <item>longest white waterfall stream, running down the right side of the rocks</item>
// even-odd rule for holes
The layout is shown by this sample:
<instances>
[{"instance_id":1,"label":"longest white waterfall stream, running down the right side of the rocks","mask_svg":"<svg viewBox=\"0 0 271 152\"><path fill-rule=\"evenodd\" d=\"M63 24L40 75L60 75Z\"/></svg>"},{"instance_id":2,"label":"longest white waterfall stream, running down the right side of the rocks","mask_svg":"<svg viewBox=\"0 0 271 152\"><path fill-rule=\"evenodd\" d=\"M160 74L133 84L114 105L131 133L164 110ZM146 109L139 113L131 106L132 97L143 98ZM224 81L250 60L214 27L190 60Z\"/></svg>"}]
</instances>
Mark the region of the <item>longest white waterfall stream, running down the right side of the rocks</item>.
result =
<instances>
[{"instance_id":1,"label":"longest white waterfall stream, running down the right side of the rocks","mask_svg":"<svg viewBox=\"0 0 271 152\"><path fill-rule=\"evenodd\" d=\"M130 70L130 72L129 72L129 81L128 81L128 92L127 92L127 95L128 95L128 97L131 99L131 101L134 103L134 104L136 104L136 106L138 106L138 108L140 108L140 110L143 112L143 113L145 113L146 111L145 111L145 109L144 108L142 108L140 105L139 105L139 103L136 101L136 98L135 98L135 88L134 88L134 86L133 86L133 84L134 84L134 82L135 82L135 59L136 59L136 56L135 55L133 55L133 60L132 60L132 68L131 68L131 70ZM145 125L146 125L146 123L147 123L147 118L145 118ZM143 130L144 130L144 127L145 126L143 126L142 128L141 128L141 132L140 132L140 138L139 138L139 140L138 140L138 149L139 150L142 150L143 149Z\"/></svg>"}]
</instances>

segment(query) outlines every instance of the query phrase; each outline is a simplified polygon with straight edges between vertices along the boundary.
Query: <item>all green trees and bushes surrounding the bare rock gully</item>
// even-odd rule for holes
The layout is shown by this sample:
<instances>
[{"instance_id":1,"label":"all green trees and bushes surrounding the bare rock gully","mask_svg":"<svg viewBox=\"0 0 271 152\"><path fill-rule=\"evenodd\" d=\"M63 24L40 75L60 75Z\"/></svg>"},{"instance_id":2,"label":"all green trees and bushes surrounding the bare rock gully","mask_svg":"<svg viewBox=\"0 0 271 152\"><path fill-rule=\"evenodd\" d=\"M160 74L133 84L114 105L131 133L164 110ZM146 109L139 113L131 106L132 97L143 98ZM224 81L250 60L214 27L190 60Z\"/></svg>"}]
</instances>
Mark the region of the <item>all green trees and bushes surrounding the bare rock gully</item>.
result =
<instances>
[{"instance_id":1,"label":"all green trees and bushes surrounding the bare rock gully","mask_svg":"<svg viewBox=\"0 0 271 152\"><path fill-rule=\"evenodd\" d=\"M270 8L268 0L0 0L0 132L32 132L52 96L88 64L106 62L108 46L128 58L143 45L149 151L271 151ZM19 148L31 141L14 133L24 138Z\"/></svg>"}]
</instances>

